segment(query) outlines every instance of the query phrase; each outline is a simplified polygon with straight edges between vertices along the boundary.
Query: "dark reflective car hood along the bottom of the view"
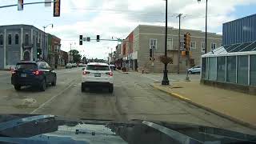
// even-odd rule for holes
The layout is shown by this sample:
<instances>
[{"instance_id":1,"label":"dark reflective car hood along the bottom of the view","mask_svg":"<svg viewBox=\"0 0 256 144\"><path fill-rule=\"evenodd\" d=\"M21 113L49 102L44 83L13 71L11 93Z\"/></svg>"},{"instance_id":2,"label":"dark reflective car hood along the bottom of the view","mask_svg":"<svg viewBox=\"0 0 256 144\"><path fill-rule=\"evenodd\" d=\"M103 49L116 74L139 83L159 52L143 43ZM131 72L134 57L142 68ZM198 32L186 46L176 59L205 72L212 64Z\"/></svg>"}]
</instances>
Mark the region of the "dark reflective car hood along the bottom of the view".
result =
<instances>
[{"instance_id":1,"label":"dark reflective car hood along the bottom of the view","mask_svg":"<svg viewBox=\"0 0 256 144\"><path fill-rule=\"evenodd\" d=\"M10 143L225 143L256 142L230 130L183 123L70 120L54 115L0 116L0 142Z\"/></svg>"}]
</instances>

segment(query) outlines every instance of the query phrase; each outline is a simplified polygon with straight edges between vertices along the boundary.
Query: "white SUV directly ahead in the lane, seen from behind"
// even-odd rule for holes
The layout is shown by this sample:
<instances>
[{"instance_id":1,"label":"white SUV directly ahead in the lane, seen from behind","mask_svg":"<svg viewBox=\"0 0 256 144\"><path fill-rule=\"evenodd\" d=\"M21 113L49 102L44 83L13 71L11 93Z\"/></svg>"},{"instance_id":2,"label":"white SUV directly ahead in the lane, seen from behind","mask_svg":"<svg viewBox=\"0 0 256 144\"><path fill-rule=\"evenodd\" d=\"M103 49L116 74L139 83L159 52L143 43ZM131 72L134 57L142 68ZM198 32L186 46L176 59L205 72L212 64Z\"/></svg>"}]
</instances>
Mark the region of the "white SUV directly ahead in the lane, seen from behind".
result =
<instances>
[{"instance_id":1,"label":"white SUV directly ahead in the lane, seen from behind","mask_svg":"<svg viewBox=\"0 0 256 144\"><path fill-rule=\"evenodd\" d=\"M82 70L81 90L85 91L86 87L98 86L107 87L110 93L113 93L113 73L110 66L106 63L90 62Z\"/></svg>"}]
</instances>

